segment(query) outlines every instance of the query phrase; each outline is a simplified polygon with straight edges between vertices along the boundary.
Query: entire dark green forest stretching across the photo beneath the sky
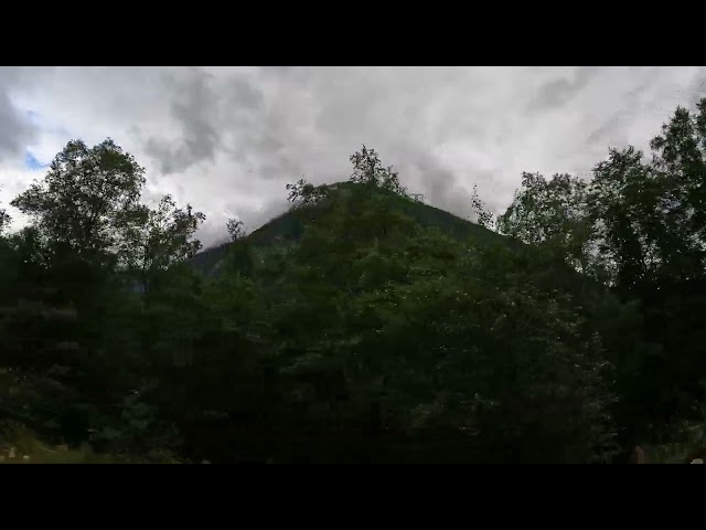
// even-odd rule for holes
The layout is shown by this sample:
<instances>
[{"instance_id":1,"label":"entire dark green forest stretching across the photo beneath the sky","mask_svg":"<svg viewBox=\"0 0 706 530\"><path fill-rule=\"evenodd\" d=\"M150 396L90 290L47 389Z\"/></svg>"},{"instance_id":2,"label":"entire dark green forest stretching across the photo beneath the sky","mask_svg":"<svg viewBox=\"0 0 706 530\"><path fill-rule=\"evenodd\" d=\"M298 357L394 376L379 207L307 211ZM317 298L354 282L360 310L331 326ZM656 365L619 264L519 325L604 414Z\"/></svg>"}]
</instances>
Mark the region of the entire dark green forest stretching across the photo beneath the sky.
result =
<instances>
[{"instance_id":1,"label":"entire dark green forest stretching across the photo beneath the sky","mask_svg":"<svg viewBox=\"0 0 706 530\"><path fill-rule=\"evenodd\" d=\"M202 213L146 206L131 155L72 140L12 201L26 226L0 210L0 447L31 433L108 462L703 457L706 98L650 147L610 149L590 179L524 173L496 218L474 193L473 222L363 147L347 182L288 184L288 212L250 234L232 220L202 252Z\"/></svg>"}]
</instances>

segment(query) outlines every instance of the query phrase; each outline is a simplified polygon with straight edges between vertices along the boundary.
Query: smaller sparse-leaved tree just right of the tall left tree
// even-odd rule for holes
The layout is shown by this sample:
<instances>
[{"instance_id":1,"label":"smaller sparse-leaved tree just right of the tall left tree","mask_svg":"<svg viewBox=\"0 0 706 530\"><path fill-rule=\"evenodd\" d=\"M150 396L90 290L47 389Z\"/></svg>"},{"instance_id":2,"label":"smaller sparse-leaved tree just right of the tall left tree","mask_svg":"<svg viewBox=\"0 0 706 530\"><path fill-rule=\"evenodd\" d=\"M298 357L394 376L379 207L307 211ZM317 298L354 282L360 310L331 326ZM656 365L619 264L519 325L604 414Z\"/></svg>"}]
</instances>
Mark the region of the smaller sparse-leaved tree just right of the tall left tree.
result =
<instances>
[{"instance_id":1,"label":"smaller sparse-leaved tree just right of the tall left tree","mask_svg":"<svg viewBox=\"0 0 706 530\"><path fill-rule=\"evenodd\" d=\"M141 206L132 215L119 240L118 251L122 266L140 280L147 293L169 267L199 252L201 242L193 239L193 234L206 218L194 212L191 204L176 208L169 194L160 200L157 209Z\"/></svg>"}]
</instances>

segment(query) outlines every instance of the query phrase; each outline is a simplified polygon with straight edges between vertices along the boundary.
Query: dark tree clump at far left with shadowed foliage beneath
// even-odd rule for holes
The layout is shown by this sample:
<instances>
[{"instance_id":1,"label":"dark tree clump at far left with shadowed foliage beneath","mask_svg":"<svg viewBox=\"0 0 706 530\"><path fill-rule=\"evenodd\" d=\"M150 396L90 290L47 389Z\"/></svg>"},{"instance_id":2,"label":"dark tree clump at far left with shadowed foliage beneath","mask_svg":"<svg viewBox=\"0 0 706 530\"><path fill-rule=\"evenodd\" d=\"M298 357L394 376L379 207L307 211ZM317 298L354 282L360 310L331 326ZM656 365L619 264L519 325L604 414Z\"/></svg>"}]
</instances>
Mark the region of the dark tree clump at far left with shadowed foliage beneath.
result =
<instances>
[{"instance_id":1,"label":"dark tree clump at far left with shadowed foliage beneath","mask_svg":"<svg viewBox=\"0 0 706 530\"><path fill-rule=\"evenodd\" d=\"M1 405L51 439L99 441L100 425L120 424L125 442L141 425L129 398L147 370L140 324L149 299L126 279L169 283L199 250L192 234L203 220L170 197L156 211L140 205L142 173L111 140L75 140L12 202L32 224L1 241L11 286L0 300L0 368L11 374Z\"/></svg>"}]
</instances>

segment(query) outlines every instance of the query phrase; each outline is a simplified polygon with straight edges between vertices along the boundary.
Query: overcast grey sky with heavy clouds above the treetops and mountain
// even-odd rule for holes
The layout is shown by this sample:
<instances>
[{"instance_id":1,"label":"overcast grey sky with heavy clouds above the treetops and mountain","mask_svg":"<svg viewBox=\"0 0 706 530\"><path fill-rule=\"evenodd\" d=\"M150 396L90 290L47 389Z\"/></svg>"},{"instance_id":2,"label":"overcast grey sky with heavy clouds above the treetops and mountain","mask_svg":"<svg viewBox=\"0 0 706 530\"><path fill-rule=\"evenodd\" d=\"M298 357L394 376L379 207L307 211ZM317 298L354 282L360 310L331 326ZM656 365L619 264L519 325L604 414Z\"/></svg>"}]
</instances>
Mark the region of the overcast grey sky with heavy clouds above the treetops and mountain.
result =
<instances>
[{"instance_id":1,"label":"overcast grey sky with heavy clouds above the treetops and mountain","mask_svg":"<svg viewBox=\"0 0 706 530\"><path fill-rule=\"evenodd\" d=\"M171 193L206 214L205 246L238 218L287 209L286 183L346 180L364 144L426 202L495 213L523 171L588 178L609 147L648 149L706 67L0 67L0 208L69 139L113 138L146 168L143 202Z\"/></svg>"}]
</instances>

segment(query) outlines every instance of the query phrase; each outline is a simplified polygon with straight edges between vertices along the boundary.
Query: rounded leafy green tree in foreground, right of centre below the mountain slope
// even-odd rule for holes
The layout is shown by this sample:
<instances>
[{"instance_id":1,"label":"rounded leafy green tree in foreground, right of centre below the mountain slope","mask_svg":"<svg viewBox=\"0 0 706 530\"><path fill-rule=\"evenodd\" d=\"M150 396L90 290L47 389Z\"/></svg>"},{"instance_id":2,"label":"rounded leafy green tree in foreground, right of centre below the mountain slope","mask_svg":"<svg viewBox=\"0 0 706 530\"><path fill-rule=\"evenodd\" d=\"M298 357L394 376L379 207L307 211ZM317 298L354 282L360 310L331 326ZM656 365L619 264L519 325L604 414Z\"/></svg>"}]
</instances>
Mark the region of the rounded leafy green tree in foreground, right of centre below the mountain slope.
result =
<instances>
[{"instance_id":1,"label":"rounded leafy green tree in foreground, right of centre below the mountain slope","mask_svg":"<svg viewBox=\"0 0 706 530\"><path fill-rule=\"evenodd\" d=\"M580 306L537 282L539 267L522 254L448 252L436 274L391 299L404 315L393 320L400 365L391 379L409 384L393 374L409 373L413 360L427 379L418 392L428 398L407 407L414 423L464 438L477 462L607 458L612 378Z\"/></svg>"}]
</instances>

